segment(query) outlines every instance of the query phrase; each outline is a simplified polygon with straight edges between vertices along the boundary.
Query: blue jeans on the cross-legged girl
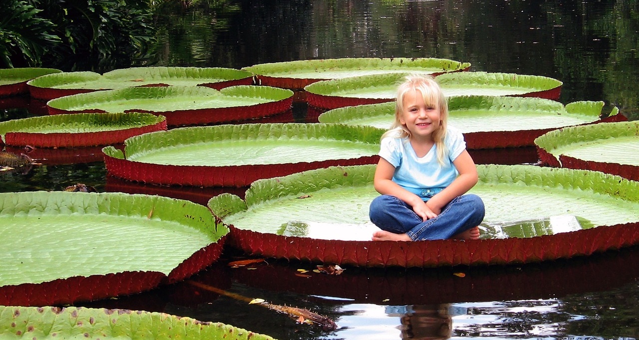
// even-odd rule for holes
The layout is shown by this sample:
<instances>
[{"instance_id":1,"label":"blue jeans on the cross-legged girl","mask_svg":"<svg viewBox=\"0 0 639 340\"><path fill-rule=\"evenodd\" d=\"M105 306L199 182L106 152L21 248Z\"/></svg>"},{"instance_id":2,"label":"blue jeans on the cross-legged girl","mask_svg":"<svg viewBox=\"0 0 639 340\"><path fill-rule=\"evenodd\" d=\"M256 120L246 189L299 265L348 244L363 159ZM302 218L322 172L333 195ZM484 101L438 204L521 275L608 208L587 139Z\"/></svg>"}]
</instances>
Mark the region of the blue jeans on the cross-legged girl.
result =
<instances>
[{"instance_id":1,"label":"blue jeans on the cross-legged girl","mask_svg":"<svg viewBox=\"0 0 639 340\"><path fill-rule=\"evenodd\" d=\"M484 220L484 202L475 194L458 196L442 208L434 219L424 221L412 206L401 199L381 195L371 202L369 217L380 229L406 233L413 241L445 240L466 231Z\"/></svg>"}]
</instances>

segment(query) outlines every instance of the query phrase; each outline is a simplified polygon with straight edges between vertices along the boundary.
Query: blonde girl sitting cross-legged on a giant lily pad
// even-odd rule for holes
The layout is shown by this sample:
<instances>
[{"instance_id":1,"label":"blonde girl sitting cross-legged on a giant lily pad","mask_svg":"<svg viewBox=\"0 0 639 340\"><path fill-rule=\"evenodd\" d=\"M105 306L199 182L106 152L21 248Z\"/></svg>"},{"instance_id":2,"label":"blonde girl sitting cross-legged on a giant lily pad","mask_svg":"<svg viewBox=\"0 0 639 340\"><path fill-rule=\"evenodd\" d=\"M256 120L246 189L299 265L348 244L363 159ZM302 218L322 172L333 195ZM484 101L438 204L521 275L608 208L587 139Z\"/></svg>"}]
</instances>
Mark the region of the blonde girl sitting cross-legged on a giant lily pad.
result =
<instances>
[{"instance_id":1,"label":"blonde girl sitting cross-legged on a giant lily pad","mask_svg":"<svg viewBox=\"0 0 639 340\"><path fill-rule=\"evenodd\" d=\"M395 121L381 137L371 221L373 240L479 238L484 203L466 194L477 183L463 135L447 128L448 104L430 76L397 89Z\"/></svg>"}]
</instances>

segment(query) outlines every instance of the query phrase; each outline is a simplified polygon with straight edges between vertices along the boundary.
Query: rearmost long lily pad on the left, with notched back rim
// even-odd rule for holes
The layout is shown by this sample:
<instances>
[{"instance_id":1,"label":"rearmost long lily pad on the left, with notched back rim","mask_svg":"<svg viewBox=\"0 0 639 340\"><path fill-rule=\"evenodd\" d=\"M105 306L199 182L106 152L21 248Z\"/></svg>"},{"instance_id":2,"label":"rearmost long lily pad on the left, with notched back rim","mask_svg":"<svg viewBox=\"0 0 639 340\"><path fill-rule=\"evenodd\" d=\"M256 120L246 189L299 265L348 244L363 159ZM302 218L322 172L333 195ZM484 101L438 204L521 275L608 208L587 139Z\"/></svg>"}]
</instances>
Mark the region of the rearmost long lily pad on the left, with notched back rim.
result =
<instances>
[{"instance_id":1,"label":"rearmost long lily pad on the left, with notched back rim","mask_svg":"<svg viewBox=\"0 0 639 340\"><path fill-rule=\"evenodd\" d=\"M111 72L63 72L27 82L31 97L51 100L78 93L134 86L207 86L222 89L252 85L253 73L219 67L134 67Z\"/></svg>"}]
</instances>

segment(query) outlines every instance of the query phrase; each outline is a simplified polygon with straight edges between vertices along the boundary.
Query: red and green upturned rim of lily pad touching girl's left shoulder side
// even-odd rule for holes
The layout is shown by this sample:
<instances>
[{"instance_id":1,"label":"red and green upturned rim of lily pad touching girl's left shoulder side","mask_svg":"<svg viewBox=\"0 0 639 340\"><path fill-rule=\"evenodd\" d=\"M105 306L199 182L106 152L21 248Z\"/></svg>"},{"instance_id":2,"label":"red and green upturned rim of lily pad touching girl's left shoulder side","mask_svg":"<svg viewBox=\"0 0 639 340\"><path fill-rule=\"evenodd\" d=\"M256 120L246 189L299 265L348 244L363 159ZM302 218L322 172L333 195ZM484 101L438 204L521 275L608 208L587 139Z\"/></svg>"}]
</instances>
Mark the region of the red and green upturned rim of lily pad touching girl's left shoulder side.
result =
<instances>
[{"instance_id":1,"label":"red and green upturned rim of lily pad touching girl's left shoulder side","mask_svg":"<svg viewBox=\"0 0 639 340\"><path fill-rule=\"evenodd\" d=\"M125 141L124 151L112 146L103 149L107 172L126 180L159 185L189 185L199 187L245 187L262 179L328 166L373 164L379 159L379 140L382 131L373 127L355 127L321 123L263 123L216 125L211 127L175 128L132 137ZM212 146L224 141L250 143L269 141L286 147L290 141L307 141L325 145L330 141L366 147L366 154L350 158L327 158L289 162L286 155L272 155L274 162L215 165L174 165L130 160L149 151L170 150L176 146L206 144ZM219 147L220 150L223 147ZM303 151L301 148L299 151ZM268 152L268 151L265 151ZM221 156L220 156L221 157Z\"/></svg>"}]
</instances>

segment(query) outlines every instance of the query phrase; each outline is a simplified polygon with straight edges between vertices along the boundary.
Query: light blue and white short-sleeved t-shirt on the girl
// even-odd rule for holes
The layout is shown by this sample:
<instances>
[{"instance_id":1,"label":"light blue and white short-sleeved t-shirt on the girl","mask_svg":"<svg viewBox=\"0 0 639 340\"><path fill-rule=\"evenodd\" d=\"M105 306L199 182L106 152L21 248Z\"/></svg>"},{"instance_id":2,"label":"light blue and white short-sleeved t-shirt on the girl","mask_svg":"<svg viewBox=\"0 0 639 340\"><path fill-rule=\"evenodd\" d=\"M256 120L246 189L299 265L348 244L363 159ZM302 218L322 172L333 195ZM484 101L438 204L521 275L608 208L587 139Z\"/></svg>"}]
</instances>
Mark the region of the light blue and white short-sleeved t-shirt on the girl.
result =
<instances>
[{"instance_id":1,"label":"light blue and white short-sleeved t-shirt on the girl","mask_svg":"<svg viewBox=\"0 0 639 340\"><path fill-rule=\"evenodd\" d=\"M448 149L444 164L437 161L436 145L424 157L417 157L407 137L385 137L381 140L379 155L395 167L393 182L427 201L459 175L452 162L466 150L464 136L449 127L444 144Z\"/></svg>"}]
</instances>

